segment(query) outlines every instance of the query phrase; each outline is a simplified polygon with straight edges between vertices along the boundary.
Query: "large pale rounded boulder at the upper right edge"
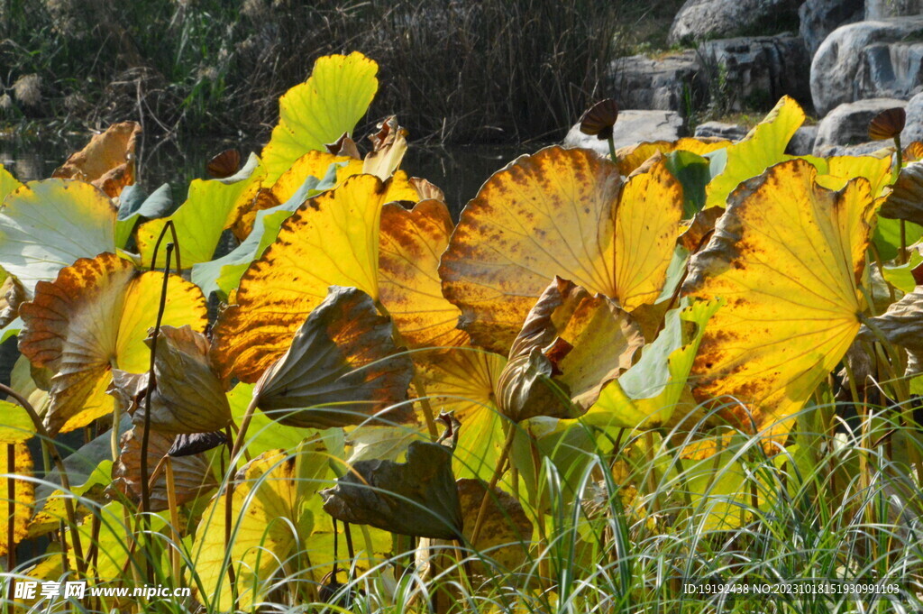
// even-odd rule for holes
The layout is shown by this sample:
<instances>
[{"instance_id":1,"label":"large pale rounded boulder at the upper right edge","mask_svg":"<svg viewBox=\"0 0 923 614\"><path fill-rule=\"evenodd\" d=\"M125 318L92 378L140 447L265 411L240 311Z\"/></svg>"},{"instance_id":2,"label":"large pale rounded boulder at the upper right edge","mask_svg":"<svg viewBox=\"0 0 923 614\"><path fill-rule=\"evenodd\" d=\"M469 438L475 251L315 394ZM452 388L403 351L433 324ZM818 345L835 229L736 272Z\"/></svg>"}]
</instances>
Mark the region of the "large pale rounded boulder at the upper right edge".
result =
<instances>
[{"instance_id":1,"label":"large pale rounded boulder at the upper right edge","mask_svg":"<svg viewBox=\"0 0 923 614\"><path fill-rule=\"evenodd\" d=\"M909 98L923 85L923 16L860 21L833 31L810 66L817 113L865 98ZM911 40L908 40L911 39Z\"/></svg>"}]
</instances>

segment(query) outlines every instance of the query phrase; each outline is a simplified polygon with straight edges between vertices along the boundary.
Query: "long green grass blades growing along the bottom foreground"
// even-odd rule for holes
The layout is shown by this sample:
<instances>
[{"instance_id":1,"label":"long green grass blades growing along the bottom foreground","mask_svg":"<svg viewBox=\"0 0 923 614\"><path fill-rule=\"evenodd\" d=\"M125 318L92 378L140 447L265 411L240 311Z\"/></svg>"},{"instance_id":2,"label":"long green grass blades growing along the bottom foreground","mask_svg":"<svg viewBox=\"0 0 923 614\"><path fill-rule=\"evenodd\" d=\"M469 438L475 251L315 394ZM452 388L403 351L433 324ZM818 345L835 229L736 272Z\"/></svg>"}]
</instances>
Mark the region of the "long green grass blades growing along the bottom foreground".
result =
<instances>
[{"instance_id":1,"label":"long green grass blades growing along the bottom foreground","mask_svg":"<svg viewBox=\"0 0 923 614\"><path fill-rule=\"evenodd\" d=\"M260 611L345 611L338 603L368 614L918 611L923 491L905 461L919 445L917 434L887 417L893 408L867 407L865 418L846 420L842 415L851 409L852 403L809 406L797 416L789 445L774 455L767 455L760 437L728 431L718 456L690 459L684 451L701 439L696 430L704 420L653 435L610 433L610 439L577 428L545 438L538 442L545 454L537 463L514 452L520 480L508 476L503 487L521 491L536 526L520 563L510 567L509 552L499 546L477 551L432 540L420 540L415 563L413 553L393 550L369 567L341 549L341 582L321 591L325 601L319 601L310 578L316 582L330 568L298 567L310 558L295 550L282 565L289 572L275 578ZM528 451L529 438L517 437ZM523 478L530 471L537 481ZM127 527L103 514L100 503L78 499L103 526L113 524L113 535L125 535ZM164 524L152 536L157 548L136 550L136 565L126 565L112 585L144 584L146 573L148 584L181 582L166 555L176 545L171 527L163 515L155 520ZM358 551L364 546L357 528ZM511 547L521 543L513 539ZM131 550L111 541L101 548ZM191 572L189 585L201 590L205 582L197 576L193 548L184 541L178 550ZM24 560L17 571L56 558L49 553ZM858 597L753 595L757 587L780 583L868 586ZM737 593L728 592L735 587ZM894 587L896 596L869 592ZM84 606L81 611L103 611L91 601ZM71 608L75 604L59 603L45 611ZM12 610L7 604L4 611ZM220 610L162 599L148 602L145 611Z\"/></svg>"}]
</instances>

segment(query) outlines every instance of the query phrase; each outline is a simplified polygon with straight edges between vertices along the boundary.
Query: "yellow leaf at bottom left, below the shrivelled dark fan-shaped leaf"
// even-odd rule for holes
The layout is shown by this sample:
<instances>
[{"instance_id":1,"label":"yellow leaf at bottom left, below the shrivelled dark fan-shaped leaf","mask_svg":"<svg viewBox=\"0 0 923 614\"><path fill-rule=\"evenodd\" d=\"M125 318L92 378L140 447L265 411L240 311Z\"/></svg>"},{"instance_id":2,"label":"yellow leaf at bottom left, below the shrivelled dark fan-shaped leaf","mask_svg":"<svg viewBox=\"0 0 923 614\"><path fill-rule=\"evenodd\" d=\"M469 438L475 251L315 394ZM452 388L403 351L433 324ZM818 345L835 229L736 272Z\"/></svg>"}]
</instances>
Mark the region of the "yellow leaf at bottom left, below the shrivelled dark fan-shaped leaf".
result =
<instances>
[{"instance_id":1,"label":"yellow leaf at bottom left, below the shrivelled dark fan-shaped leaf","mask_svg":"<svg viewBox=\"0 0 923 614\"><path fill-rule=\"evenodd\" d=\"M239 595L238 608L250 611L279 581L304 582L310 572L292 566L289 557L306 548L315 524L308 501L329 484L327 453L317 443L301 453L272 450L260 454L237 472L231 513L231 564ZM319 500L319 498L317 498ZM199 600L216 611L230 611L234 597L228 581L225 533L225 493L215 496L202 513L192 548ZM289 575L289 574L292 575ZM319 580L319 578L318 578Z\"/></svg>"}]
</instances>

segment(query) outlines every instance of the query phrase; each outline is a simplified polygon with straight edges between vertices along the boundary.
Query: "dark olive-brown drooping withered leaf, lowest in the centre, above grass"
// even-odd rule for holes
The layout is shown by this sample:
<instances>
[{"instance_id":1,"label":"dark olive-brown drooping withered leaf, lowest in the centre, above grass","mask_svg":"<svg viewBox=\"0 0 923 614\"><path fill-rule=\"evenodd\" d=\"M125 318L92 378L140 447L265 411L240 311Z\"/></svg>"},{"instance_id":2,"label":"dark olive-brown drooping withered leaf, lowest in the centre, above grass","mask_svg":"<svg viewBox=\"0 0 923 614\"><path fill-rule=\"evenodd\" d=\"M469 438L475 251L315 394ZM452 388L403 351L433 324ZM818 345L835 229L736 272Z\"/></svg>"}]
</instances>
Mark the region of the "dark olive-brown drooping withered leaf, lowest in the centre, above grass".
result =
<instances>
[{"instance_id":1,"label":"dark olive-brown drooping withered leaf, lowest in the centre, above grass","mask_svg":"<svg viewBox=\"0 0 923 614\"><path fill-rule=\"evenodd\" d=\"M452 451L438 443L413 441L406 463L359 461L320 496L324 512L343 523L368 524L404 536L462 536Z\"/></svg>"}]
</instances>

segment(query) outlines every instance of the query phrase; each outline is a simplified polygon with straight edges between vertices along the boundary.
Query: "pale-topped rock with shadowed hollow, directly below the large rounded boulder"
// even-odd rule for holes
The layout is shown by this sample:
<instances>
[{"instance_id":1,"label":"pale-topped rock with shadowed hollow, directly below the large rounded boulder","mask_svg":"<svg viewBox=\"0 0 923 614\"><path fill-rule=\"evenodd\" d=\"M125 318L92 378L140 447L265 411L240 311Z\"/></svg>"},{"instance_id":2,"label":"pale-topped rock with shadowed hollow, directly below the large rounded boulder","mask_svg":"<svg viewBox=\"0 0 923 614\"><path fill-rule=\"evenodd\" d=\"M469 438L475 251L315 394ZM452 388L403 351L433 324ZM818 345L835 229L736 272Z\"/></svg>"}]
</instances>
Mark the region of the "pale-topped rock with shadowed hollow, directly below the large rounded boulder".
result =
<instances>
[{"instance_id":1,"label":"pale-topped rock with shadowed hollow, directly below the large rounded boulder","mask_svg":"<svg viewBox=\"0 0 923 614\"><path fill-rule=\"evenodd\" d=\"M869 142L869 122L886 109L905 105L906 102L893 98L841 104L821 120L814 141L814 155L845 155L846 150L850 155L857 155L887 147L888 141Z\"/></svg>"}]
</instances>

